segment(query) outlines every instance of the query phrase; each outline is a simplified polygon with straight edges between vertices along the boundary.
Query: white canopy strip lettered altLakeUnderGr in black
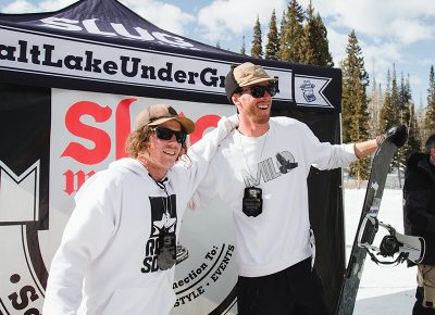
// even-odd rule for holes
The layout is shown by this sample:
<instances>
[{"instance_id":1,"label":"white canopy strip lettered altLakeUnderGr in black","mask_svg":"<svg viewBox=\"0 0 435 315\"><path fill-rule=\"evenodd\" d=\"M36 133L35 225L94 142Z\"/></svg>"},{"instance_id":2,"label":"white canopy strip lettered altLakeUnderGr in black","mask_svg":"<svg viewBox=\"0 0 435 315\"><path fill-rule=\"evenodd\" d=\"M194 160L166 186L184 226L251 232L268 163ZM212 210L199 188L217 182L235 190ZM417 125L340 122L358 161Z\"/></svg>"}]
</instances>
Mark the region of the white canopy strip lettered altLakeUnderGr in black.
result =
<instances>
[{"instance_id":1,"label":"white canopy strip lettered altLakeUnderGr in black","mask_svg":"<svg viewBox=\"0 0 435 315\"><path fill-rule=\"evenodd\" d=\"M52 77L222 94L232 62L23 33L1 26L0 68ZM294 101L291 70L265 67L285 87L275 100Z\"/></svg>"}]
</instances>

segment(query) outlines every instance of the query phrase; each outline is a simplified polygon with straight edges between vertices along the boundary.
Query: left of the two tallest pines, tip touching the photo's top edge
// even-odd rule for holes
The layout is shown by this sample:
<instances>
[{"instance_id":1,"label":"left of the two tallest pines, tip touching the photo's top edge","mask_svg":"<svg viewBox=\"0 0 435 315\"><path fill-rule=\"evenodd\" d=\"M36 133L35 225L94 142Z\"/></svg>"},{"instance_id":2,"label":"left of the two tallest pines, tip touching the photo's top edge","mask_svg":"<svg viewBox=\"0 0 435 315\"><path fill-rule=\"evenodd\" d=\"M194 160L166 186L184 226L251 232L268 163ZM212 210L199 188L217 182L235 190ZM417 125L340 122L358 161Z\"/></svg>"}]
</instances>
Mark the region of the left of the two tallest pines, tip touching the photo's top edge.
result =
<instances>
[{"instance_id":1,"label":"left of the two tallest pines, tip touching the photo's top edge","mask_svg":"<svg viewBox=\"0 0 435 315\"><path fill-rule=\"evenodd\" d=\"M286 24L281 34L279 59L282 61L300 62L300 45L303 36L303 10L297 0L288 4Z\"/></svg>"}]
</instances>

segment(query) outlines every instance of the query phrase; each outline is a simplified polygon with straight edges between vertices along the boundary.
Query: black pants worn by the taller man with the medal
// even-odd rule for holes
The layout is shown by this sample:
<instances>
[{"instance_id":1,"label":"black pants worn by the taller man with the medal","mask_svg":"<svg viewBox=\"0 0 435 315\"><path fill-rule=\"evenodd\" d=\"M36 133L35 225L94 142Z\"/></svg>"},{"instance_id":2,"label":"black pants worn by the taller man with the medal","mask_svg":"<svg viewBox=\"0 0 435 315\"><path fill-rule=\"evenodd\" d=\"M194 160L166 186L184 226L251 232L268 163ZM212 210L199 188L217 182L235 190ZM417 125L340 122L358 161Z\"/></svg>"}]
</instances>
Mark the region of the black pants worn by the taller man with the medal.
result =
<instances>
[{"instance_id":1,"label":"black pants worn by the taller man with the medal","mask_svg":"<svg viewBox=\"0 0 435 315\"><path fill-rule=\"evenodd\" d=\"M239 315L327 315L323 286L311 259L263 277L238 277Z\"/></svg>"}]
</instances>

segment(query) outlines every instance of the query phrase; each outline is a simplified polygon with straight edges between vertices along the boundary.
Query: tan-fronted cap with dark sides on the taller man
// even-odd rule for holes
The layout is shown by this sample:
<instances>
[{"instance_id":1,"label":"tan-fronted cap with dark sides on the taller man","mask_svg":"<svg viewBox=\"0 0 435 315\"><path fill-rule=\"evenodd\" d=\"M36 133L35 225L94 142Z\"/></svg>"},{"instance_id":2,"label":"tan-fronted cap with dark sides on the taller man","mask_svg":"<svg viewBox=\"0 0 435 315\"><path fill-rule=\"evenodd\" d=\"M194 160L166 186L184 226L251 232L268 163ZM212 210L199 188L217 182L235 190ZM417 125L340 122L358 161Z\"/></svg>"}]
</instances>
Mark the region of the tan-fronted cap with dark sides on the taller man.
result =
<instances>
[{"instance_id":1,"label":"tan-fronted cap with dark sides on the taller man","mask_svg":"<svg viewBox=\"0 0 435 315\"><path fill-rule=\"evenodd\" d=\"M269 76L261 65L245 62L239 65L232 65L225 77L226 98L233 103L232 97L238 88L251 86L263 81L277 81L277 78Z\"/></svg>"}]
</instances>

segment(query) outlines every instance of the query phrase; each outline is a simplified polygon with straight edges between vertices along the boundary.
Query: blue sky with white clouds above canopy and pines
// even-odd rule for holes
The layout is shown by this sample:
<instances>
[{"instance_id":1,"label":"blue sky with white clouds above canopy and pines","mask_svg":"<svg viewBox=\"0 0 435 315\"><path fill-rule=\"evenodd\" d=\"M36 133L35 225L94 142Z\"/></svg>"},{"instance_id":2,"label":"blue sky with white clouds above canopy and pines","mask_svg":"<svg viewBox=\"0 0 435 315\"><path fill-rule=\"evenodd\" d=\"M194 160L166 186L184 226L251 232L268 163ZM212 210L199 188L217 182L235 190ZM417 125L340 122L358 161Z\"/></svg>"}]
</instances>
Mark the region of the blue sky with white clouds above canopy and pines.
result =
<instances>
[{"instance_id":1,"label":"blue sky with white clouds above canopy and pines","mask_svg":"<svg viewBox=\"0 0 435 315\"><path fill-rule=\"evenodd\" d=\"M103 1L103 0L100 0ZM311 0L327 29L335 66L346 58L348 35L355 29L370 81L382 89L393 67L398 81L410 78L415 105L425 106L431 65L435 65L434 0ZM0 0L2 13L55 11L74 0ZM250 52L257 16L266 43L275 10L277 25L289 0L120 0L162 29L239 52L245 36ZM307 9L309 0L298 0ZM370 90L369 90L370 91Z\"/></svg>"}]
</instances>

